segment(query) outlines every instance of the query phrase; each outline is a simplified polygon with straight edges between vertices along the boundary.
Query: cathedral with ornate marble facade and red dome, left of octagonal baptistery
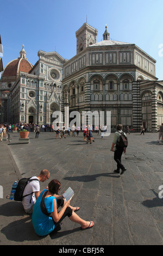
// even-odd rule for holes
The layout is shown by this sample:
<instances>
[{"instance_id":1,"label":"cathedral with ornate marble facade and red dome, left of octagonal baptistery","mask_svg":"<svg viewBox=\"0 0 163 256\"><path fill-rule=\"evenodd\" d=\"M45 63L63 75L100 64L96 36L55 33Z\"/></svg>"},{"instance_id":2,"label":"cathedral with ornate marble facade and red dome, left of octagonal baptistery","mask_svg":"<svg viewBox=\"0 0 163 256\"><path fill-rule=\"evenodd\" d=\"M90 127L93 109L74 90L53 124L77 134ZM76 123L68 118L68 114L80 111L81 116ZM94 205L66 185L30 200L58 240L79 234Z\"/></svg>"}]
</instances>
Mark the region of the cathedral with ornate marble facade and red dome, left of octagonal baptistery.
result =
<instances>
[{"instance_id":1,"label":"cathedral with ornate marble facade and red dome, left of octagonal baptistery","mask_svg":"<svg viewBox=\"0 0 163 256\"><path fill-rule=\"evenodd\" d=\"M37 55L39 60L33 66L28 62L23 46L20 57L5 67L1 78L1 123L51 123L53 112L60 110L65 59L57 52L40 50ZM20 62L15 77L12 76L14 62Z\"/></svg>"}]
</instances>

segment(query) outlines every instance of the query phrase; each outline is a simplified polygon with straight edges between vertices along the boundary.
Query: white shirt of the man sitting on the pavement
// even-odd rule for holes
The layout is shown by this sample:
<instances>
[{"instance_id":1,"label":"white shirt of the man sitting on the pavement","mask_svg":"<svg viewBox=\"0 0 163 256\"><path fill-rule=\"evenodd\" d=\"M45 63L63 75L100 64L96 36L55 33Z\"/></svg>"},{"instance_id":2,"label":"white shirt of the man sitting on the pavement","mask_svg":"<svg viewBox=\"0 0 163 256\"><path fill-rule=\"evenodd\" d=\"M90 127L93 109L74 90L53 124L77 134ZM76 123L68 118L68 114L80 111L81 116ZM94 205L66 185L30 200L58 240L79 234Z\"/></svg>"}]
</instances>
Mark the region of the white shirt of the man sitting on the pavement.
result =
<instances>
[{"instance_id":1,"label":"white shirt of the man sitting on the pavement","mask_svg":"<svg viewBox=\"0 0 163 256\"><path fill-rule=\"evenodd\" d=\"M31 179L38 179L38 178L36 176L33 176ZM23 196L25 196L26 194L29 194L29 196L24 197L22 200L23 208L25 210L30 209L32 205L35 204L36 202L35 194L34 193L30 194L30 193L36 192L36 191L40 191L39 179L38 181L37 180L30 181L24 189ZM31 196L32 196L32 200L30 203Z\"/></svg>"}]
</instances>

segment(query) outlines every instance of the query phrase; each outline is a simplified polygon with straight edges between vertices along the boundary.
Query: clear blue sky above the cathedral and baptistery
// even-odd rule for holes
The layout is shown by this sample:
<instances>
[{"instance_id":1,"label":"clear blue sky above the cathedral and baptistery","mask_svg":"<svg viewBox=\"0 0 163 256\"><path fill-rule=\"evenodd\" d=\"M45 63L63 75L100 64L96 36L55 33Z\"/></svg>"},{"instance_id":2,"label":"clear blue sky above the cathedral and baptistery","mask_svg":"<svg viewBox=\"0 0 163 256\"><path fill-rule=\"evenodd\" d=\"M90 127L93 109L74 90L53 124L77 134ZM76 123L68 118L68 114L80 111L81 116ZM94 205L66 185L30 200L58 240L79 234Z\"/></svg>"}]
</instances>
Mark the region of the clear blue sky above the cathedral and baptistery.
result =
<instances>
[{"instance_id":1,"label":"clear blue sky above the cathedral and baptistery","mask_svg":"<svg viewBox=\"0 0 163 256\"><path fill-rule=\"evenodd\" d=\"M76 31L86 22L105 24L110 39L139 46L156 60L156 77L163 80L162 0L0 0L3 66L16 59L24 44L33 65L37 52L57 51L66 59L76 55Z\"/></svg>"}]
</instances>

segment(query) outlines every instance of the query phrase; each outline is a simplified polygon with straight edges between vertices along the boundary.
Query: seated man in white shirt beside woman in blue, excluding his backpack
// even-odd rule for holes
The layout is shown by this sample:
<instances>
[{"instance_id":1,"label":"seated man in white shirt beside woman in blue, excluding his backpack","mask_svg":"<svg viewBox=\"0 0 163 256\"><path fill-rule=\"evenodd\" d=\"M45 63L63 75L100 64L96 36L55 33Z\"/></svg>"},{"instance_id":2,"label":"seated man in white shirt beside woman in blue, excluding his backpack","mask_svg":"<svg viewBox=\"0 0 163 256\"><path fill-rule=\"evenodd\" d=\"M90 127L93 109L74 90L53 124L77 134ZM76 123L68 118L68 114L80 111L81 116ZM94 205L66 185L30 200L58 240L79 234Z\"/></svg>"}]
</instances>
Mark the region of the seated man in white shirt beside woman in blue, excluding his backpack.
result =
<instances>
[{"instance_id":1,"label":"seated man in white shirt beside woman in blue, excluding his backpack","mask_svg":"<svg viewBox=\"0 0 163 256\"><path fill-rule=\"evenodd\" d=\"M24 188L23 192L23 208L27 214L32 214L34 204L36 203L37 198L40 196L40 182L44 182L49 178L50 174L47 169L41 170L38 176L33 176L30 179L37 179L31 182L28 182L27 186Z\"/></svg>"}]
</instances>

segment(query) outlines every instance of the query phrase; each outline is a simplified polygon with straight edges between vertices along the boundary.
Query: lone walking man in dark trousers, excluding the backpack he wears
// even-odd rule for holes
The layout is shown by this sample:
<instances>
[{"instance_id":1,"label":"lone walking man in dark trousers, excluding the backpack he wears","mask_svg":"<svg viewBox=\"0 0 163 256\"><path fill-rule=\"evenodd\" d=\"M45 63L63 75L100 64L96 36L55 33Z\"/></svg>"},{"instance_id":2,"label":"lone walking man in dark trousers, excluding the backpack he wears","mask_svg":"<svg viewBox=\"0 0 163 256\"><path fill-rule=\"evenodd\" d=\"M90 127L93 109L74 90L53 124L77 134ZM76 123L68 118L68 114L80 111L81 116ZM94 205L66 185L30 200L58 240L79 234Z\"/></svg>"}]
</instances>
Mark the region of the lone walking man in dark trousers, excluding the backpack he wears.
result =
<instances>
[{"instance_id":1,"label":"lone walking man in dark trousers, excluding the backpack he wears","mask_svg":"<svg viewBox=\"0 0 163 256\"><path fill-rule=\"evenodd\" d=\"M114 139L111 146L111 151L114 151L114 147L116 146L116 149L114 151L114 160L117 163L117 169L114 170L114 172L120 173L120 169L121 169L122 170L121 175L124 173L125 170L127 170L121 163L121 156L123 152L126 153L126 148L118 146L118 141L120 140L121 133L123 132L122 129L123 129L123 126L121 124L118 124L116 126L117 131L114 133ZM124 133L124 135L126 135L126 133Z\"/></svg>"}]
</instances>

